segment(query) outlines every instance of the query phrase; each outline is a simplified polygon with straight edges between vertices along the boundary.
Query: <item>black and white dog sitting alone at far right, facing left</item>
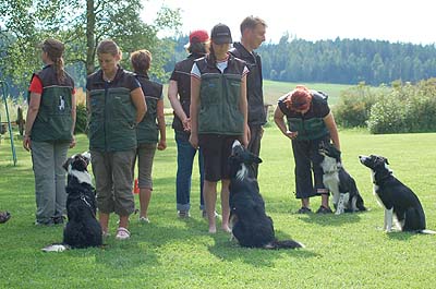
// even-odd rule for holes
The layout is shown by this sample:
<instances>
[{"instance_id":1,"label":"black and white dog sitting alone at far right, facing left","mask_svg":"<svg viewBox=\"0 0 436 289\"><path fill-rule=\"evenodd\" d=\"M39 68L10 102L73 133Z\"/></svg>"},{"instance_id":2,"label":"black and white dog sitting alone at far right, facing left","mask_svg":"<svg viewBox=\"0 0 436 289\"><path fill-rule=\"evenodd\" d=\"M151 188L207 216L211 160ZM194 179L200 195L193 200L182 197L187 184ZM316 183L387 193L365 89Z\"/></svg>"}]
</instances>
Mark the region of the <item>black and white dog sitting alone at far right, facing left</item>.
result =
<instances>
[{"instance_id":1,"label":"black and white dog sitting alone at far right, facing left","mask_svg":"<svg viewBox=\"0 0 436 289\"><path fill-rule=\"evenodd\" d=\"M384 230L390 232L392 219L401 231L435 233L425 230L425 214L417 196L393 177L388 159L383 156L359 156L362 165L372 170L374 195L385 208Z\"/></svg>"}]
</instances>

